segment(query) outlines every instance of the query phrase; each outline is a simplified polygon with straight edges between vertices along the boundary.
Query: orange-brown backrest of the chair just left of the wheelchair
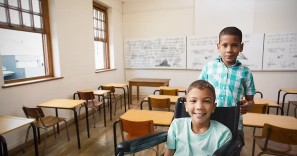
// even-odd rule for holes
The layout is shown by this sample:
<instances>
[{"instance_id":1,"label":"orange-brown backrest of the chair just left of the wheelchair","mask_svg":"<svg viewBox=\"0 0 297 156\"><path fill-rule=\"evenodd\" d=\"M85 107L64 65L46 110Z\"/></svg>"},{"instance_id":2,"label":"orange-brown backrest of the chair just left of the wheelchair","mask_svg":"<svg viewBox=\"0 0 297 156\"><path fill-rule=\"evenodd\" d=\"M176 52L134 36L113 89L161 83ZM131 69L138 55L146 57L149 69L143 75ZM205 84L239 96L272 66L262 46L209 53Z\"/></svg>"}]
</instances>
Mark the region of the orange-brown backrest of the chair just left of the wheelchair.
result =
<instances>
[{"instance_id":1,"label":"orange-brown backrest of the chair just left of the wheelchair","mask_svg":"<svg viewBox=\"0 0 297 156\"><path fill-rule=\"evenodd\" d=\"M148 135L153 133L153 120L129 121L119 117L121 130L134 135Z\"/></svg>"}]
</instances>

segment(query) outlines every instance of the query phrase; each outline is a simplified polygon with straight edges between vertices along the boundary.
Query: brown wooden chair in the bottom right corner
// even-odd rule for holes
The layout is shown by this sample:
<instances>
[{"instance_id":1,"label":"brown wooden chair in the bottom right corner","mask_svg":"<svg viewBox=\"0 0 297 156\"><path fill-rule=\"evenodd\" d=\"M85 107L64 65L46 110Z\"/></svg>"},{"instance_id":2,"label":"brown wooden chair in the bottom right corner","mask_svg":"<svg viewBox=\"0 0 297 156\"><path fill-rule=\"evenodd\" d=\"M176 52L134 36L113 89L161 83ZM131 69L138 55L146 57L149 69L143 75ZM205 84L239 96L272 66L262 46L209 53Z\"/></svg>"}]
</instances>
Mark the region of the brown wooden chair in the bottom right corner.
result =
<instances>
[{"instance_id":1,"label":"brown wooden chair in the bottom right corner","mask_svg":"<svg viewBox=\"0 0 297 156\"><path fill-rule=\"evenodd\" d=\"M281 128L265 123L262 136L254 136L254 140L262 150L258 156L262 154L297 156L297 130ZM252 156L254 156L254 145L252 149Z\"/></svg>"}]
</instances>

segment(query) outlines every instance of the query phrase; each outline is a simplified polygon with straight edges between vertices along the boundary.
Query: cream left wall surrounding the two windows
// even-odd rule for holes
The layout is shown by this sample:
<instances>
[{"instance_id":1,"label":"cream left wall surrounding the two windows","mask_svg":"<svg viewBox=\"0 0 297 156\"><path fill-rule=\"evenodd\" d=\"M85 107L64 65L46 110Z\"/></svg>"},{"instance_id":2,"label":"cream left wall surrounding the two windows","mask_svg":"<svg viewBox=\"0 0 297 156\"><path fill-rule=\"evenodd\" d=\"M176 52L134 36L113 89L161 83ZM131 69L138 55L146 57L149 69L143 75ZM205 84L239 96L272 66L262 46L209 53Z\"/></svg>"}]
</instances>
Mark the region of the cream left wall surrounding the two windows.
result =
<instances>
[{"instance_id":1,"label":"cream left wall surrounding the two windows","mask_svg":"<svg viewBox=\"0 0 297 156\"><path fill-rule=\"evenodd\" d=\"M109 2L106 4L110 13L108 29L112 34L110 36L111 66L117 70L95 73L92 0L49 0L55 75L61 75L64 78L0 88L0 115L25 117L22 105L35 107L55 98L72 99L73 93L77 90L97 89L104 83L124 82L122 3L118 0L104 1ZM0 85L3 84L3 76L0 72ZM46 115L55 115L54 109L43 110ZM71 119L73 112L59 110L59 116ZM24 143L26 129L27 127L22 127L3 135L8 149Z\"/></svg>"}]
</instances>

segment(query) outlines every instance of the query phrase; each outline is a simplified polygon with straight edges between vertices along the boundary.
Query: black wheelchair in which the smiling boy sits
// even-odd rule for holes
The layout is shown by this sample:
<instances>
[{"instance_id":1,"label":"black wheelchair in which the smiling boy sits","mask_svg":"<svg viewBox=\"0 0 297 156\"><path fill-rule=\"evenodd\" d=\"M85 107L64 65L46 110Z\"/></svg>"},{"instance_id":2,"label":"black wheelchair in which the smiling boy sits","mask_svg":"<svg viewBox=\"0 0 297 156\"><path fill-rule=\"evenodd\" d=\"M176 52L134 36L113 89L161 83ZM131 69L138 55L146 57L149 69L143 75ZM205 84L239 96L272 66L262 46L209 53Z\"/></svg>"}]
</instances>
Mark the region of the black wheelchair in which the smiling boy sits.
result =
<instances>
[{"instance_id":1,"label":"black wheelchair in which the smiling boy sits","mask_svg":"<svg viewBox=\"0 0 297 156\"><path fill-rule=\"evenodd\" d=\"M184 102L185 98L179 98L175 103L174 118L190 117L186 112ZM214 113L211 114L210 119L216 120L227 126L233 139L226 142L223 146L218 148L213 156L233 156L237 149L240 147L240 142L237 139L238 120L240 109L236 107L216 107ZM144 149L148 149L155 145L166 142L167 132L158 132L148 134L139 138L126 140L117 145L117 156L124 156L127 154L133 154Z\"/></svg>"}]
</instances>

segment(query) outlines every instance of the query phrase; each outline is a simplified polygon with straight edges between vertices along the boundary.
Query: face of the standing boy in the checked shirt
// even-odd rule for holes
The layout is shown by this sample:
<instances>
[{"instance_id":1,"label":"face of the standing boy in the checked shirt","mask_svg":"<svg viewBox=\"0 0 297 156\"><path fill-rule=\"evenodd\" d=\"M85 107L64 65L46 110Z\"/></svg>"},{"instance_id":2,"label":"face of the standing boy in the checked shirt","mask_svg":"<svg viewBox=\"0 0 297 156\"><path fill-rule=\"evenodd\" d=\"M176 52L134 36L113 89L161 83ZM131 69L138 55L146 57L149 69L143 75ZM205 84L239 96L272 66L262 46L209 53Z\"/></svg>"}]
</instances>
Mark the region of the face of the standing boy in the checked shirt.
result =
<instances>
[{"instance_id":1,"label":"face of the standing boy in the checked shirt","mask_svg":"<svg viewBox=\"0 0 297 156\"><path fill-rule=\"evenodd\" d=\"M222 61L226 67L235 64L237 56L244 49L244 43L240 43L238 36L223 35L217 44L218 52L222 55Z\"/></svg>"}]
</instances>

